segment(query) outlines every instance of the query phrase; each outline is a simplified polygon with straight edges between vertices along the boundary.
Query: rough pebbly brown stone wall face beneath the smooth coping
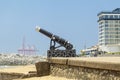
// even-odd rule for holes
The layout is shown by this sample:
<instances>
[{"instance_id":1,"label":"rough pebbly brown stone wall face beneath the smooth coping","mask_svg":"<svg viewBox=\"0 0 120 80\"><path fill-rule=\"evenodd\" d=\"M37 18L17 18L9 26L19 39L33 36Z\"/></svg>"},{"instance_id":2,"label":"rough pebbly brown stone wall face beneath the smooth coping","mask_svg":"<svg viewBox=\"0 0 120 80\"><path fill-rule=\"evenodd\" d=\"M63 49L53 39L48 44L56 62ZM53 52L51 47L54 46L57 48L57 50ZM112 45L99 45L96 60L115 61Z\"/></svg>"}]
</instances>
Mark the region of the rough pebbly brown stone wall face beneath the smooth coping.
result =
<instances>
[{"instance_id":1,"label":"rough pebbly brown stone wall face beneath the smooth coping","mask_svg":"<svg viewBox=\"0 0 120 80\"><path fill-rule=\"evenodd\" d=\"M62 64L51 64L50 74L74 80L120 80L120 72Z\"/></svg>"}]
</instances>

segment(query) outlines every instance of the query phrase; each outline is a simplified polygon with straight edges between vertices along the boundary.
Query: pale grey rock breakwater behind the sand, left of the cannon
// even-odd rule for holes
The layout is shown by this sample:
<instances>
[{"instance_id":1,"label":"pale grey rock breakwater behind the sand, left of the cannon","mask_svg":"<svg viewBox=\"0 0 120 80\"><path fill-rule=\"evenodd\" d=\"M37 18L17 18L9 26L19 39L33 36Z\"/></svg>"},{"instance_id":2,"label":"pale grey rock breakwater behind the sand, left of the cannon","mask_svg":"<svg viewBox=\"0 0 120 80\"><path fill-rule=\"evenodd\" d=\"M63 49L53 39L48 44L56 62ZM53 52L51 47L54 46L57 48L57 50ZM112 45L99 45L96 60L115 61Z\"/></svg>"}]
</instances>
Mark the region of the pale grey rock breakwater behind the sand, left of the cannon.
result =
<instances>
[{"instance_id":1,"label":"pale grey rock breakwater behind the sand, left of the cannon","mask_svg":"<svg viewBox=\"0 0 120 80\"><path fill-rule=\"evenodd\" d=\"M21 66L35 64L36 62L45 60L42 56L28 56L21 54L1 54L0 66Z\"/></svg>"}]
</instances>

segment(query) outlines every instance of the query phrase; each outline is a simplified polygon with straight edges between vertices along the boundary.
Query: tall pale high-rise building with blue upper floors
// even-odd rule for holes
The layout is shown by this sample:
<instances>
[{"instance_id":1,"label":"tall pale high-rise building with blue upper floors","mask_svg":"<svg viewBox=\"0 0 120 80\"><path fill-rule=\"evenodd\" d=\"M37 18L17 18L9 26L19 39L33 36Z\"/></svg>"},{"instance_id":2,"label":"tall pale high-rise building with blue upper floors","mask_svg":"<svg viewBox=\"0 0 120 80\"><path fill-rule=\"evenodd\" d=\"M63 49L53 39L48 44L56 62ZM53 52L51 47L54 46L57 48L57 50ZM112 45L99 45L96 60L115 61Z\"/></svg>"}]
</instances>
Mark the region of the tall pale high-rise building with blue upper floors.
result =
<instances>
[{"instance_id":1,"label":"tall pale high-rise building with blue upper floors","mask_svg":"<svg viewBox=\"0 0 120 80\"><path fill-rule=\"evenodd\" d=\"M106 52L120 52L120 8L98 14L99 48Z\"/></svg>"}]
</instances>

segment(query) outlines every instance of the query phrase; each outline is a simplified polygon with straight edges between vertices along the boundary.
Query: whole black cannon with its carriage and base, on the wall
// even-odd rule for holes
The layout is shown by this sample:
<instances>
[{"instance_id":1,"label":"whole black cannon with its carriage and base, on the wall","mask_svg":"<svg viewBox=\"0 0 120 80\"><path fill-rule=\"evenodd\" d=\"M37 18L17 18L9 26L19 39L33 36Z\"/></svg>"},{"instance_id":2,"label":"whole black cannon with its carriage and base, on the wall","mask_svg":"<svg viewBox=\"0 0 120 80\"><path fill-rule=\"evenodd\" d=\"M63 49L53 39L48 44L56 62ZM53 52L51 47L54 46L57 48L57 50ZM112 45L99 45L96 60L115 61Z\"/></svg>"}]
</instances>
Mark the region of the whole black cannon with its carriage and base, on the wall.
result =
<instances>
[{"instance_id":1,"label":"whole black cannon with its carriage and base, on the wall","mask_svg":"<svg viewBox=\"0 0 120 80\"><path fill-rule=\"evenodd\" d=\"M50 38L50 49L47 51L47 57L75 57L76 50L73 49L73 45L69 41L54 35L40 27L36 27L36 31L44 34ZM63 47L63 48L61 48Z\"/></svg>"}]
</instances>

